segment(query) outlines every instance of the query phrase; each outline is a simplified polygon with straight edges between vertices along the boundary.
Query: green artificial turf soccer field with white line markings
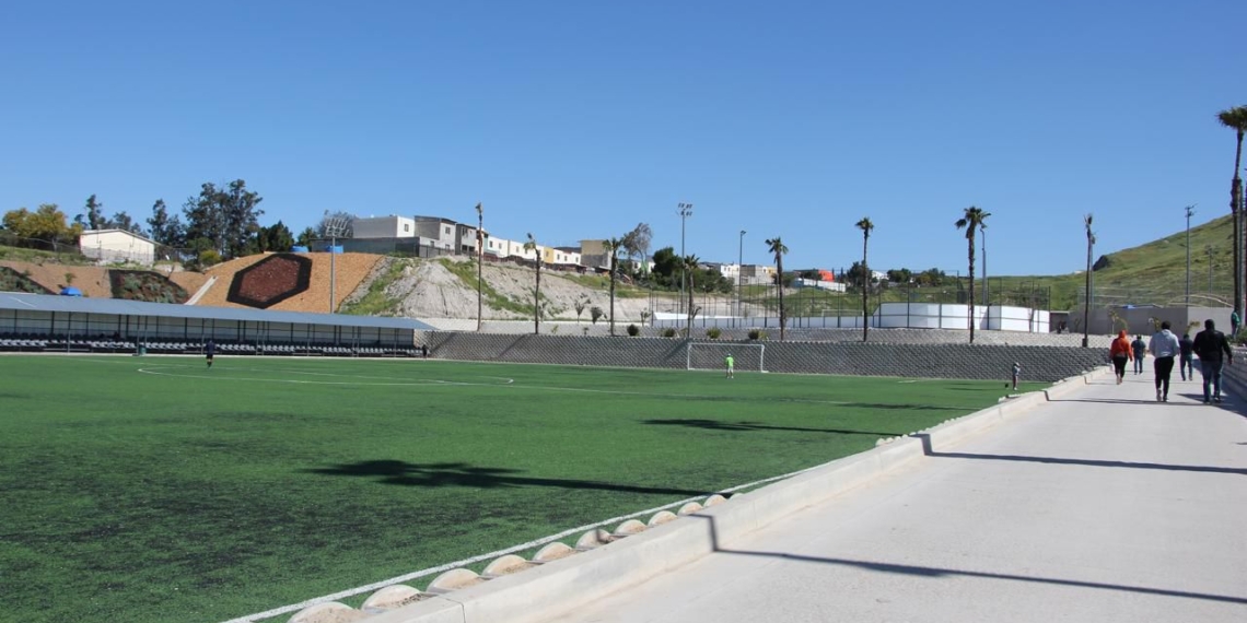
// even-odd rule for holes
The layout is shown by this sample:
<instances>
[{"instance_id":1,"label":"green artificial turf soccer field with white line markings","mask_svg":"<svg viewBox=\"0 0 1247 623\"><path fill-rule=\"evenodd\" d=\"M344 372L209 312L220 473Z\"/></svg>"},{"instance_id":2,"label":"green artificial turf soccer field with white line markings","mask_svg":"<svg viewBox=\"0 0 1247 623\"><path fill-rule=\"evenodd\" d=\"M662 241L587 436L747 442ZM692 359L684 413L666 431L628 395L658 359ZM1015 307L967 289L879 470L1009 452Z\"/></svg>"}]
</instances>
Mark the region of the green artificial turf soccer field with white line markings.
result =
<instances>
[{"instance_id":1,"label":"green artificial turf soccer field with white line markings","mask_svg":"<svg viewBox=\"0 0 1247 623\"><path fill-rule=\"evenodd\" d=\"M0 618L24 623L243 617L819 465L1005 391L172 356L0 356Z\"/></svg>"}]
</instances>

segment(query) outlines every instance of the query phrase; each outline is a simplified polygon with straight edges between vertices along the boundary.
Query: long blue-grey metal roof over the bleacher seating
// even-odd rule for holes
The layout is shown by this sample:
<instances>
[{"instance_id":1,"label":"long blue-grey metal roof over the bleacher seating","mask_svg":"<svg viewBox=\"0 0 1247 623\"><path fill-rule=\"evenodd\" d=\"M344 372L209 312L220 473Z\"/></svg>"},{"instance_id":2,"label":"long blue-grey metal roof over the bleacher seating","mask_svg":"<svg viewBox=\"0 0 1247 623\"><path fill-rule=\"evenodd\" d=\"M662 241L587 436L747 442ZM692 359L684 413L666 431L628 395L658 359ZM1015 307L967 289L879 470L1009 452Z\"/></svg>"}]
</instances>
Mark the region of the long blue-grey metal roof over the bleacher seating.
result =
<instances>
[{"instance_id":1,"label":"long blue-grey metal roof over the bleacher seating","mask_svg":"<svg viewBox=\"0 0 1247 623\"><path fill-rule=\"evenodd\" d=\"M263 309L173 305L125 299L90 299L55 294L0 293L0 309L20 312L67 312L85 314L137 315L153 318L187 318L197 320L234 320L251 323L292 323L369 329L408 329L431 331L433 326L410 318L380 318L347 314L312 314L306 312L268 312Z\"/></svg>"}]
</instances>

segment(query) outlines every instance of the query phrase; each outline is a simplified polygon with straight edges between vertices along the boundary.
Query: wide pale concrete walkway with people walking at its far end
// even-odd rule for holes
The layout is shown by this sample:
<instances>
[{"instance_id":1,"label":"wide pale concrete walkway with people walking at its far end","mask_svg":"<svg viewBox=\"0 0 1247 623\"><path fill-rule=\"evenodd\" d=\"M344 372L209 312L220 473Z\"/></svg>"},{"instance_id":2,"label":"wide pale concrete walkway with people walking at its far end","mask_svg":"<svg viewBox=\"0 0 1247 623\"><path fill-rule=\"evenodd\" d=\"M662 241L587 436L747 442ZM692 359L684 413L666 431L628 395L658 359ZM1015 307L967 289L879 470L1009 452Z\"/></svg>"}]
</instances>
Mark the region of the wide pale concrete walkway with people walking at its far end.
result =
<instances>
[{"instance_id":1,"label":"wide pale concrete walkway with people walking at its far end","mask_svg":"<svg viewBox=\"0 0 1247 623\"><path fill-rule=\"evenodd\" d=\"M1176 379L1102 378L555 621L1247 622L1247 405Z\"/></svg>"}]
</instances>

